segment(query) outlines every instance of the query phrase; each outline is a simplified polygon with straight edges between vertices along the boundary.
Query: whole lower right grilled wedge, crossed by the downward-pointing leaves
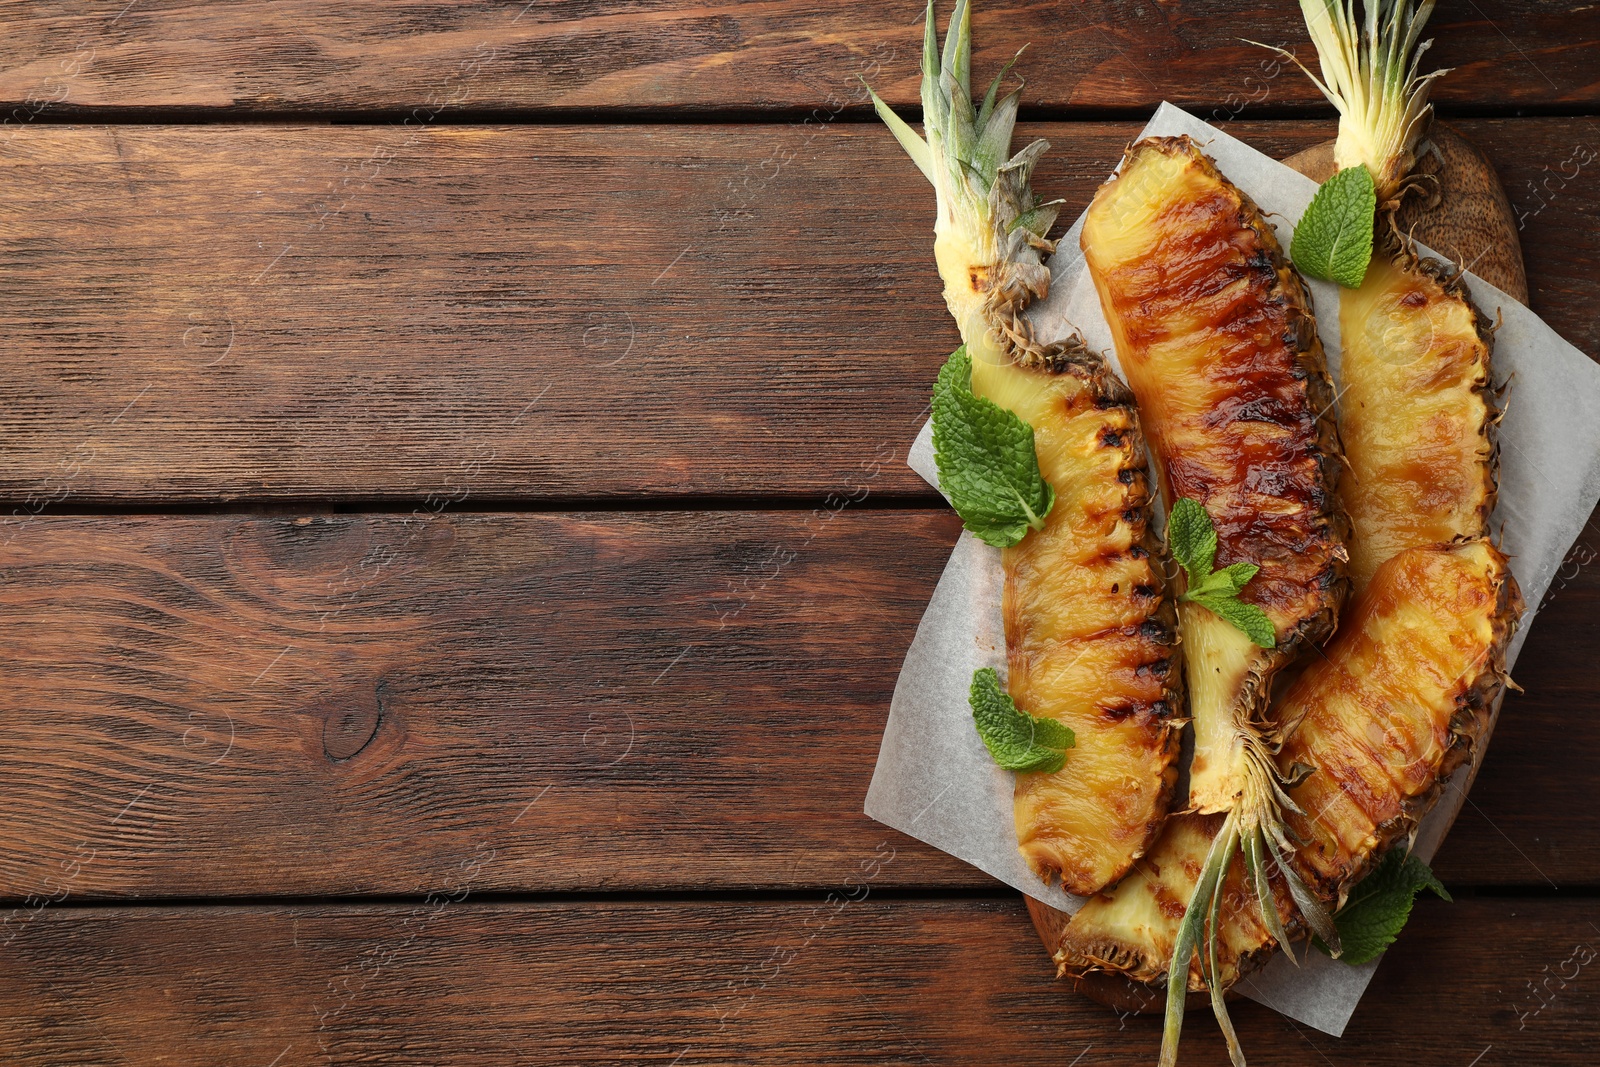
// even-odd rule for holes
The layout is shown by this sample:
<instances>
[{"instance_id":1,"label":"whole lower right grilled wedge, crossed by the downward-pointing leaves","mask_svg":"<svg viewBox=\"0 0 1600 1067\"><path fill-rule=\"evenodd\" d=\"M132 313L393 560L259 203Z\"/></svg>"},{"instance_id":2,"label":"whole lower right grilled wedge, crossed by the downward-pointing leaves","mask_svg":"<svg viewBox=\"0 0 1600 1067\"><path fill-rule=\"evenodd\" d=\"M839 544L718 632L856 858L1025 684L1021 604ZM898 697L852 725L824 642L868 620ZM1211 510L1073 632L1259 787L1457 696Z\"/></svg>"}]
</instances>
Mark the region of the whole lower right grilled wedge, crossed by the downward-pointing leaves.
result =
<instances>
[{"instance_id":1,"label":"whole lower right grilled wedge, crossed by the downward-pointing leaves","mask_svg":"<svg viewBox=\"0 0 1600 1067\"><path fill-rule=\"evenodd\" d=\"M1488 541L1406 549L1378 568L1323 656L1283 694L1275 710L1293 729L1277 761L1302 779L1288 787L1301 809L1286 809L1301 841L1288 859L1323 899L1342 904L1470 752L1504 683L1506 643L1520 609L1506 557ZM1221 827L1216 816L1168 819L1133 873L1067 923L1056 950L1059 973L1165 981L1184 901ZM1274 947L1245 867L1235 862L1224 883L1213 979L1222 987ZM1272 897L1280 921L1293 926L1277 878ZM1205 989L1198 963L1189 989Z\"/></svg>"}]
</instances>

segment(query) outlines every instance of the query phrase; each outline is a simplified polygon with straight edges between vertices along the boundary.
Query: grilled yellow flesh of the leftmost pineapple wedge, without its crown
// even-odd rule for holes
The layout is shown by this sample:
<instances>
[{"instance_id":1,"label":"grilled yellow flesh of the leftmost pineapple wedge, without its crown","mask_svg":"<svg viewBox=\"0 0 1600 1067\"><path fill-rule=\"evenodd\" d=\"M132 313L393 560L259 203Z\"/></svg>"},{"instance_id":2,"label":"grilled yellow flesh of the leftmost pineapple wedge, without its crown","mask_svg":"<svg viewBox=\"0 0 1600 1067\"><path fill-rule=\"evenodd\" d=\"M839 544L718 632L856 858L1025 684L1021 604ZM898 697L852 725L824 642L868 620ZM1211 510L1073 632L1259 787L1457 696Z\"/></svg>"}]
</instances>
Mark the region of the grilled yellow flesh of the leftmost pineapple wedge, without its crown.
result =
<instances>
[{"instance_id":1,"label":"grilled yellow flesh of the leftmost pineapple wedge, without its crown","mask_svg":"<svg viewBox=\"0 0 1600 1067\"><path fill-rule=\"evenodd\" d=\"M1034 427L1056 490L1045 528L1005 549L1010 693L1077 736L1054 774L1016 776L1029 865L1088 894L1144 854L1178 776L1174 614L1126 389L1083 354L1056 370L973 365L973 390Z\"/></svg>"}]
</instances>

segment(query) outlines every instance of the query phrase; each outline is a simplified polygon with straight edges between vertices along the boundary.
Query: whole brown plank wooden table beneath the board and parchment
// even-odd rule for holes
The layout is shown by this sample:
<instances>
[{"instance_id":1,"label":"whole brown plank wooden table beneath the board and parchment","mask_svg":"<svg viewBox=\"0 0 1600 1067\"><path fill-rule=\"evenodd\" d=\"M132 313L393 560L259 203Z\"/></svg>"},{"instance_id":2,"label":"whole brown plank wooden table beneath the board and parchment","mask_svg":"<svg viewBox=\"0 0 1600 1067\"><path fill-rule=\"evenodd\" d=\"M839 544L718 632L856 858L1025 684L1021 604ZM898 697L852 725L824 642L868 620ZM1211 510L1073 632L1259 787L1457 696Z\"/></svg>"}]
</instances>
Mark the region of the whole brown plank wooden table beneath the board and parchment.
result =
<instances>
[{"instance_id":1,"label":"whole brown plank wooden table beneath the board and parchment","mask_svg":"<svg viewBox=\"0 0 1600 1067\"><path fill-rule=\"evenodd\" d=\"M1600 354L1600 6L1445 0L1442 114ZM918 5L5 3L0 1062L1150 1064L861 814L957 534ZM1296 5L984 3L1038 187L1160 99L1331 136ZM1587 1064L1600 530L1342 1040ZM1576 974L1574 974L1576 971ZM1222 1064L1197 1017L1186 1064Z\"/></svg>"}]
</instances>

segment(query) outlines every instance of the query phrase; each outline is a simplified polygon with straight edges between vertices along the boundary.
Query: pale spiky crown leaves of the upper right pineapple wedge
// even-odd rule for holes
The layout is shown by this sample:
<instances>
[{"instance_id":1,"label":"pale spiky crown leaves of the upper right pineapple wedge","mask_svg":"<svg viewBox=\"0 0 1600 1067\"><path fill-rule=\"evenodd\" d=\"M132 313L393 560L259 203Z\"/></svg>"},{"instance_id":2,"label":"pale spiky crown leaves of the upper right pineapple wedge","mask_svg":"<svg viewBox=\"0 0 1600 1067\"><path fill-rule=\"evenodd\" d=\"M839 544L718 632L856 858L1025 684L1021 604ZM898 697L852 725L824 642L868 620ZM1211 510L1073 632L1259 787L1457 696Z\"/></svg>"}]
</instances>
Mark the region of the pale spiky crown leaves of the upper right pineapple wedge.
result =
<instances>
[{"instance_id":1,"label":"pale spiky crown leaves of the upper right pineapple wedge","mask_svg":"<svg viewBox=\"0 0 1600 1067\"><path fill-rule=\"evenodd\" d=\"M1363 19L1357 19L1355 0L1301 0L1301 11L1320 78L1293 53L1262 48L1291 59L1339 109L1334 163L1341 170L1365 163L1378 200L1392 200L1416 165L1416 144L1434 114L1429 88L1446 74L1419 74L1422 53L1434 43L1421 40L1434 0L1362 0Z\"/></svg>"}]
</instances>

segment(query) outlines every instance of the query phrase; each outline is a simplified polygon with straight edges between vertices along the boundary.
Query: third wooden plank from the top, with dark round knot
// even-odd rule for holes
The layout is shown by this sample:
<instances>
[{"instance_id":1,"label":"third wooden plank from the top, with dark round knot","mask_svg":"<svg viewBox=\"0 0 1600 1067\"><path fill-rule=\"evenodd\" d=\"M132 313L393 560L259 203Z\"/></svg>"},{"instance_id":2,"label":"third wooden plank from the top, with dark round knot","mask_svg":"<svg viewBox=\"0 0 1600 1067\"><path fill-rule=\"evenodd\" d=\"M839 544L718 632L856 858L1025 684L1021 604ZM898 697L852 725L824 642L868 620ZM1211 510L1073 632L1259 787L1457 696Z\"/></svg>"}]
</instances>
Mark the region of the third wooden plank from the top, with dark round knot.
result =
<instances>
[{"instance_id":1,"label":"third wooden plank from the top, with dark round knot","mask_svg":"<svg viewBox=\"0 0 1600 1067\"><path fill-rule=\"evenodd\" d=\"M866 477L866 475L864 475ZM864 482L862 485L869 485ZM861 814L947 512L43 517L0 547L0 897L995 886ZM1574 566L1438 861L1600 885Z\"/></svg>"}]
</instances>

